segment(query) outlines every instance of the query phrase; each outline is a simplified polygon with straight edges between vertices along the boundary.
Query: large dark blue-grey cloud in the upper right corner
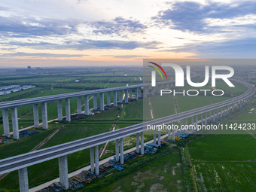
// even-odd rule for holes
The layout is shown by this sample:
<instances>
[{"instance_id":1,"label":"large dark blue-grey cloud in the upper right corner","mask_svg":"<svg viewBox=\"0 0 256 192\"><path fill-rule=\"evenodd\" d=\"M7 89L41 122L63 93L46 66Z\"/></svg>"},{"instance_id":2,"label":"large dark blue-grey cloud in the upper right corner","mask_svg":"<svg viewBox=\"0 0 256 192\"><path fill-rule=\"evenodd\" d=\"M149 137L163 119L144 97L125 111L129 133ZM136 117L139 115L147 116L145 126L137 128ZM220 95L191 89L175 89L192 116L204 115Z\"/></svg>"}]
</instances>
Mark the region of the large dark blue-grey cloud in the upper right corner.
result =
<instances>
[{"instance_id":1,"label":"large dark blue-grey cloud in the upper right corner","mask_svg":"<svg viewBox=\"0 0 256 192\"><path fill-rule=\"evenodd\" d=\"M209 18L235 19L248 14L256 14L256 2L239 2L237 5L215 2L208 5L197 2L177 2L171 8L160 11L152 19L172 29L212 33L215 32L215 27L210 26Z\"/></svg>"}]
</instances>

